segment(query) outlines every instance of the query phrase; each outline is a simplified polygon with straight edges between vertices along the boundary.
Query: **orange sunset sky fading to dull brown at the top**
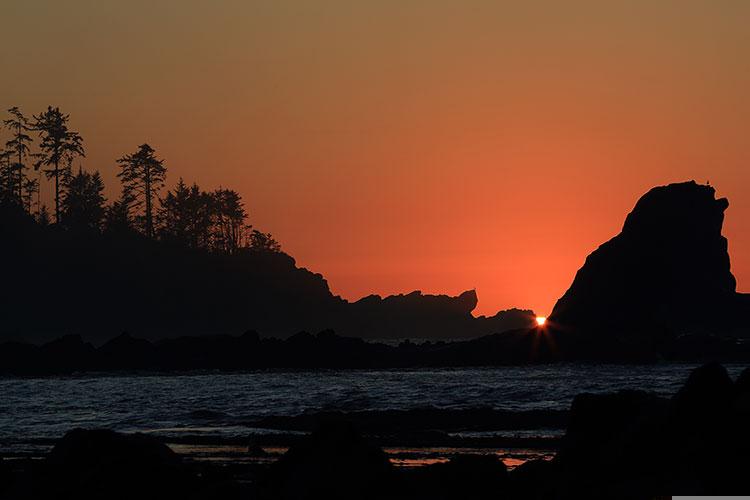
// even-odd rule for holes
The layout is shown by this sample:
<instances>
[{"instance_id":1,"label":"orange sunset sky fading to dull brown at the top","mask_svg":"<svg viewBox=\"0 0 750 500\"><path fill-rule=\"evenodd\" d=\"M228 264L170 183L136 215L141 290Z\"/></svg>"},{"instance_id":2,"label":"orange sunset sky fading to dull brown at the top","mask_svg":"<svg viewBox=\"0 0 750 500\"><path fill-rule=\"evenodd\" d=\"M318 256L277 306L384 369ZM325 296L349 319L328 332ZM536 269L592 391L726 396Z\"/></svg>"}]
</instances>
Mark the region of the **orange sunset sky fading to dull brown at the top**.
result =
<instances>
[{"instance_id":1,"label":"orange sunset sky fading to dull brown at the top","mask_svg":"<svg viewBox=\"0 0 750 500\"><path fill-rule=\"evenodd\" d=\"M548 313L650 187L710 180L750 284L750 2L4 0L0 106L145 141L346 298ZM6 134L7 135L7 134ZM43 186L49 199L49 187Z\"/></svg>"}]
</instances>

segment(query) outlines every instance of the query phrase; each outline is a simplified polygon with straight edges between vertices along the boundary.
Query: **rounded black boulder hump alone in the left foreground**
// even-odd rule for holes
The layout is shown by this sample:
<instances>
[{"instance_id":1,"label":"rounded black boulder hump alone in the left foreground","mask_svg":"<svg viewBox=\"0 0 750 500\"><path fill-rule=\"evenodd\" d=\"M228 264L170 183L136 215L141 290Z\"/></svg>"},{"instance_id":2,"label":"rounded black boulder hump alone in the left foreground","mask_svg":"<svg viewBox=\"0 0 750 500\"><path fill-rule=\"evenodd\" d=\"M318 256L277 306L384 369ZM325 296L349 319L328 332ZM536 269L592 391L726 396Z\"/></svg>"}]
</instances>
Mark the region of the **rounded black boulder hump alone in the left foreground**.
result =
<instances>
[{"instance_id":1,"label":"rounded black boulder hump alone in the left foreground","mask_svg":"<svg viewBox=\"0 0 750 500\"><path fill-rule=\"evenodd\" d=\"M47 498L162 499L192 494L197 479L154 438L109 430L68 432L46 459Z\"/></svg>"}]
</instances>

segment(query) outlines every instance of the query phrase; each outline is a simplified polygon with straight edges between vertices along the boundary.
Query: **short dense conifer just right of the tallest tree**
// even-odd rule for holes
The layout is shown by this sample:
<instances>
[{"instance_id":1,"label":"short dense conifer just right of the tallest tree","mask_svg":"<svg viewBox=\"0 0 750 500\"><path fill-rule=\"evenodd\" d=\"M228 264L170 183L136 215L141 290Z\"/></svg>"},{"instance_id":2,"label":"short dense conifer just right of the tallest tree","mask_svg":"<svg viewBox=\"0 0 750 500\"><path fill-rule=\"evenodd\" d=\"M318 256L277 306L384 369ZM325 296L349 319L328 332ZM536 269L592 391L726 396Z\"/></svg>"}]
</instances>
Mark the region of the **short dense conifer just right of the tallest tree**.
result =
<instances>
[{"instance_id":1,"label":"short dense conifer just right of the tallest tree","mask_svg":"<svg viewBox=\"0 0 750 500\"><path fill-rule=\"evenodd\" d=\"M104 218L104 182L99 172L79 168L66 185L62 202L63 223L98 230Z\"/></svg>"}]
</instances>

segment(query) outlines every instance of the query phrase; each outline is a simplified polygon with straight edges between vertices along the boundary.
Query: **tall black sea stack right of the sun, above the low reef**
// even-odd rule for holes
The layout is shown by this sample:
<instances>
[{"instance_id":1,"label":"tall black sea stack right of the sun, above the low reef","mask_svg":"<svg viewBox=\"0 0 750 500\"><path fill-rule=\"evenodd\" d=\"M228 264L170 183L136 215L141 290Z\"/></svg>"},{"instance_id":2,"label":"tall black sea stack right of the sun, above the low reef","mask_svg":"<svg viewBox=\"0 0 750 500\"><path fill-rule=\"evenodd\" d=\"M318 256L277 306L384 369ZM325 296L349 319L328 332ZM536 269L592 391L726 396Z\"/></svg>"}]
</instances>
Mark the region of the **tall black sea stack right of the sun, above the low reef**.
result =
<instances>
[{"instance_id":1,"label":"tall black sea stack right of the sun, above the low reef","mask_svg":"<svg viewBox=\"0 0 750 500\"><path fill-rule=\"evenodd\" d=\"M623 337L734 329L744 299L721 235L728 205L694 181L646 193L622 232L588 256L551 324Z\"/></svg>"}]
</instances>

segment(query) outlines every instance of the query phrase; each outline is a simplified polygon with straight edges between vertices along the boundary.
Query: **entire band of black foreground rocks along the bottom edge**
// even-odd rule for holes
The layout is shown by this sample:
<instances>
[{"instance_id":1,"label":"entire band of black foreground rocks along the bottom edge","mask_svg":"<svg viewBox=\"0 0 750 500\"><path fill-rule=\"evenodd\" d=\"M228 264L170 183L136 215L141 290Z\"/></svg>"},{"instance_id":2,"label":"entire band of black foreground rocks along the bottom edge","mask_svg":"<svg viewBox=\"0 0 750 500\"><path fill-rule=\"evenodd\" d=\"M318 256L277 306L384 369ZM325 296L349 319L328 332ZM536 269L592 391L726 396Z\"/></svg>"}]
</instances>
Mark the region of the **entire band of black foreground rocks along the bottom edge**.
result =
<instances>
[{"instance_id":1,"label":"entire band of black foreground rocks along the bottom edge","mask_svg":"<svg viewBox=\"0 0 750 500\"><path fill-rule=\"evenodd\" d=\"M470 428L475 414L464 415ZM485 415L485 418L488 415ZM390 419L398 419L390 415ZM410 427L405 415L406 427ZM451 414L448 421L460 419ZM306 422L276 461L218 465L184 459L160 439L75 429L45 458L0 460L0 497L17 499L651 499L741 495L750 465L750 369L732 380L710 363L672 397L643 391L580 394L551 460L508 470L476 449L449 461L397 467L368 416ZM390 422L386 428L398 427ZM458 422L450 425L458 426ZM248 457L263 456L257 444Z\"/></svg>"}]
</instances>

